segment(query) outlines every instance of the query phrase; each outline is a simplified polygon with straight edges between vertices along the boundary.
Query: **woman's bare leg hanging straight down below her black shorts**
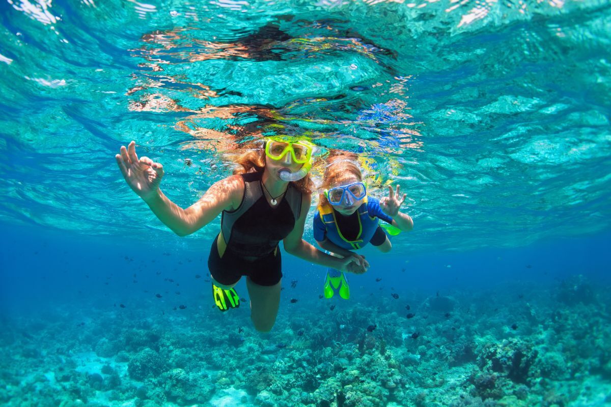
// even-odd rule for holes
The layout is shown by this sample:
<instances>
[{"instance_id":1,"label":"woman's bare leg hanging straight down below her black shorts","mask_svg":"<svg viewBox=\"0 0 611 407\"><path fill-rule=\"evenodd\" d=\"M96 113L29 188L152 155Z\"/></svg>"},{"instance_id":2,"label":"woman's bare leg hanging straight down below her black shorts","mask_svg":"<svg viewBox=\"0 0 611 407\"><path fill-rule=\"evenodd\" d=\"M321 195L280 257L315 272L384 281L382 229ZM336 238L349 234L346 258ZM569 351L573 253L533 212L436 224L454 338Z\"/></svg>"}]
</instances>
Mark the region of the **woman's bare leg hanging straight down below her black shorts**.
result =
<instances>
[{"instance_id":1,"label":"woman's bare leg hanging straight down below her black shorts","mask_svg":"<svg viewBox=\"0 0 611 407\"><path fill-rule=\"evenodd\" d=\"M280 284L274 286L260 286L246 278L248 295L251 297L251 320L255 330L269 332L276 323L276 315L280 308Z\"/></svg>"}]
</instances>

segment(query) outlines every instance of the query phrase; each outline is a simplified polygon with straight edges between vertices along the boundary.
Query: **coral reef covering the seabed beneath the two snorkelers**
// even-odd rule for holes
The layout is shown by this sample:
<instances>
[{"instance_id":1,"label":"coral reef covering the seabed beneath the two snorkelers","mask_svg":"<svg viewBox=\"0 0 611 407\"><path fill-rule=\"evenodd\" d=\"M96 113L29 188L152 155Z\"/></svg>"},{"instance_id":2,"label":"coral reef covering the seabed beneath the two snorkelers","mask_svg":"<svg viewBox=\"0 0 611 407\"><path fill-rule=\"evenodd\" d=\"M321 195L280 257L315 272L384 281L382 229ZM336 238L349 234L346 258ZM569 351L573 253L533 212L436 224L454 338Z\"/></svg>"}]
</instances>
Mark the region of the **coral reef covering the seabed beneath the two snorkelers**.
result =
<instances>
[{"instance_id":1,"label":"coral reef covering the seabed beneath the two snorkelers","mask_svg":"<svg viewBox=\"0 0 611 407\"><path fill-rule=\"evenodd\" d=\"M0 403L602 404L611 397L611 326L601 305L608 294L580 277L566 281L590 288L569 295L562 283L544 294L521 287L481 298L459 291L401 294L412 298L410 318L390 295L375 305L346 301L337 308L326 300L302 300L311 312L280 313L268 334L254 331L241 308L230 315L229 327L229 313L213 312L194 323L197 311L155 320L147 308L134 322L92 311L98 312L92 322L76 328L74 317L14 320L0 333L0 359L12 361L0 370ZM491 296L494 308L486 306ZM40 334L29 334L34 329Z\"/></svg>"}]
</instances>

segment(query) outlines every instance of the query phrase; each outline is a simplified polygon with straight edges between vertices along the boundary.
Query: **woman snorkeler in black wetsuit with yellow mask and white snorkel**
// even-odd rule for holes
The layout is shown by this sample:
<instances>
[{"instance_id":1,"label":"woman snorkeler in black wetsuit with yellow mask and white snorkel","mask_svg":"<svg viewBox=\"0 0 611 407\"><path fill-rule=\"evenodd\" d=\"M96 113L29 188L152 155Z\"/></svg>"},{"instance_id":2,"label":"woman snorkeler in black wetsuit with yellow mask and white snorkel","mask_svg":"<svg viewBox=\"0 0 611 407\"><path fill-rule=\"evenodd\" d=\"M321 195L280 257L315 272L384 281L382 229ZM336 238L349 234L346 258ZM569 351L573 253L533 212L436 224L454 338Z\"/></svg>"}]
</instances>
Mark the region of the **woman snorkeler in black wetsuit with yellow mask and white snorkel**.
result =
<instances>
[{"instance_id":1,"label":"woman snorkeler in black wetsuit with yellow mask and white snorkel","mask_svg":"<svg viewBox=\"0 0 611 407\"><path fill-rule=\"evenodd\" d=\"M247 276L252 323L266 332L274 326L280 306L280 240L288 253L306 261L342 272L365 272L362 257L351 253L335 258L302 239L311 203L307 173L312 148L306 140L268 137L264 145L254 145L238 158L233 176L215 182L187 209L161 192L163 166L148 157L138 159L135 142L121 146L115 158L131 189L178 236L196 232L222 212L221 232L208 258L214 301L221 311L239 306L233 287Z\"/></svg>"}]
</instances>

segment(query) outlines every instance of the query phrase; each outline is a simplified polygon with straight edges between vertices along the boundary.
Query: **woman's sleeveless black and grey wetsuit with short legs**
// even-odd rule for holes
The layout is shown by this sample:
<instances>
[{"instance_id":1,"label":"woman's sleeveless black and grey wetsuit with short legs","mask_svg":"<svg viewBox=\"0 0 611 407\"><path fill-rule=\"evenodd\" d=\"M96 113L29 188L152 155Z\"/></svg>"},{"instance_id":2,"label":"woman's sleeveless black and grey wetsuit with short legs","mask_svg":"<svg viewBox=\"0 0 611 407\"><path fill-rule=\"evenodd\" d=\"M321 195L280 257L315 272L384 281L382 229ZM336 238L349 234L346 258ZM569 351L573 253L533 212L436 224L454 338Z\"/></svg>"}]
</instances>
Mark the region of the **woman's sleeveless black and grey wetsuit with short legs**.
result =
<instances>
[{"instance_id":1,"label":"woman's sleeveless black and grey wetsuit with short legs","mask_svg":"<svg viewBox=\"0 0 611 407\"><path fill-rule=\"evenodd\" d=\"M210 274L221 284L229 286L241 276L249 276L255 284L274 286L282 278L278 243L299 218L301 192L289 183L282 201L273 207L263 193L262 175L242 174L244 195L240 206L222 212L221 231L227 248L221 258L214 239L208 258Z\"/></svg>"}]
</instances>

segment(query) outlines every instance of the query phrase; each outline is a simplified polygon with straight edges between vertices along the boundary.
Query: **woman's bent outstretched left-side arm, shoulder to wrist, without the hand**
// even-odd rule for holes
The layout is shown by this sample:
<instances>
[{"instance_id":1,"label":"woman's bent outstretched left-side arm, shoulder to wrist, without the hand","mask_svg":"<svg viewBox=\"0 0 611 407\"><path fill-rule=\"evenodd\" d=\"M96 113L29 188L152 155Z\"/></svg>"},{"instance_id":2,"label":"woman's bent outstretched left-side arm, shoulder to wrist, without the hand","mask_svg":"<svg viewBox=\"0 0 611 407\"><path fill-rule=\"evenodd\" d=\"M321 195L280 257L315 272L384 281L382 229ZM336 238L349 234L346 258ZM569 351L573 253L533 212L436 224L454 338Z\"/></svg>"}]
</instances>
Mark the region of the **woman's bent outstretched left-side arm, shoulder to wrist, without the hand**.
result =
<instances>
[{"instance_id":1,"label":"woman's bent outstretched left-side arm, shoulder to wrist, without the hand","mask_svg":"<svg viewBox=\"0 0 611 407\"><path fill-rule=\"evenodd\" d=\"M231 211L238 206L243 190L242 178L230 176L215 182L202 198L187 209L170 201L160 189L143 199L164 225L178 236L186 236L210 223L222 211Z\"/></svg>"}]
</instances>

